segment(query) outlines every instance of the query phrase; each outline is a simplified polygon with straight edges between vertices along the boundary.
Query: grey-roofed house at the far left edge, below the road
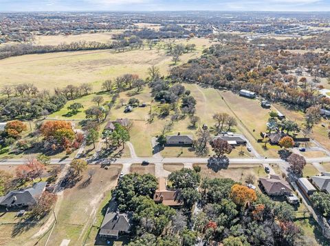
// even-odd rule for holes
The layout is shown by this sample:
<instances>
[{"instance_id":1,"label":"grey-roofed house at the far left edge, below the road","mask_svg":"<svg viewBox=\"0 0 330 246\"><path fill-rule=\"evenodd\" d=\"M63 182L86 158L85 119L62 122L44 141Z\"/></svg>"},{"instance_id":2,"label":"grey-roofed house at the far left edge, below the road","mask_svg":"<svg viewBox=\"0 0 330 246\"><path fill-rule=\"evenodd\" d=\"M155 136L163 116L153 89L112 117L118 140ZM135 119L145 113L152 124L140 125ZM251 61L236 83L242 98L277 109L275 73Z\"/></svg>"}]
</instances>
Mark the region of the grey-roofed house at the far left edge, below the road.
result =
<instances>
[{"instance_id":1,"label":"grey-roofed house at the far left edge, below the road","mask_svg":"<svg viewBox=\"0 0 330 246\"><path fill-rule=\"evenodd\" d=\"M12 190L7 195L0 197L0 206L5 208L34 206L38 203L46 185L47 182L39 182L24 190Z\"/></svg>"}]
</instances>

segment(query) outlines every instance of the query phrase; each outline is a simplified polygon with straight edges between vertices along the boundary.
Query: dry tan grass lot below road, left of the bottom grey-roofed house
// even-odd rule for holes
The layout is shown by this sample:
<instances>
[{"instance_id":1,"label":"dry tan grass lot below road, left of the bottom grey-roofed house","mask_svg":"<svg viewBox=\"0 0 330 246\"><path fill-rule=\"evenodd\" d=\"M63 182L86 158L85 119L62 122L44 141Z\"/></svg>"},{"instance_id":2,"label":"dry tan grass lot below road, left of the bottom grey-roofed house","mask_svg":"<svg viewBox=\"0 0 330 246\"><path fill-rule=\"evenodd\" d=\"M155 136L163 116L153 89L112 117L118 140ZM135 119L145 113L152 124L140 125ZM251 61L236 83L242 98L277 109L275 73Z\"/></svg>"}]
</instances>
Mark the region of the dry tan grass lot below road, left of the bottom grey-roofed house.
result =
<instances>
[{"instance_id":1,"label":"dry tan grass lot below road, left of the bottom grey-roofed house","mask_svg":"<svg viewBox=\"0 0 330 246\"><path fill-rule=\"evenodd\" d=\"M57 214L58 223L50 236L52 245L60 245L63 239L70 239L70 245L83 244L104 197L109 197L109 192L117 184L121 166L113 165L108 170L99 166L89 169L96 171L90 183L87 183L88 174L85 171L76 186L64 191Z\"/></svg>"}]
</instances>

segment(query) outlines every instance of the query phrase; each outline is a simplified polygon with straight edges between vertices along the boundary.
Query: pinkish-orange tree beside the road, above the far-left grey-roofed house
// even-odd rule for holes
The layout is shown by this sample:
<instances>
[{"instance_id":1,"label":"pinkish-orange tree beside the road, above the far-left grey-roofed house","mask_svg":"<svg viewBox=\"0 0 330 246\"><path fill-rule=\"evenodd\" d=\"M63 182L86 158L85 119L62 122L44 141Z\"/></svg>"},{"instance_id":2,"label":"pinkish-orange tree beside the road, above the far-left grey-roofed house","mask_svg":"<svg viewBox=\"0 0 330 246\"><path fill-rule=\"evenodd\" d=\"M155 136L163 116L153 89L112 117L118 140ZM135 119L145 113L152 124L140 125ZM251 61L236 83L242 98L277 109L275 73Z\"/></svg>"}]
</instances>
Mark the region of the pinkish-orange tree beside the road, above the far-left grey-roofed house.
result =
<instances>
[{"instance_id":1,"label":"pinkish-orange tree beside the road, above the far-left grey-roofed house","mask_svg":"<svg viewBox=\"0 0 330 246\"><path fill-rule=\"evenodd\" d=\"M45 169L44 164L34 158L29 158L26 164L16 168L16 175L21 180L29 181L36 177L39 177L41 180L41 175Z\"/></svg>"}]
</instances>

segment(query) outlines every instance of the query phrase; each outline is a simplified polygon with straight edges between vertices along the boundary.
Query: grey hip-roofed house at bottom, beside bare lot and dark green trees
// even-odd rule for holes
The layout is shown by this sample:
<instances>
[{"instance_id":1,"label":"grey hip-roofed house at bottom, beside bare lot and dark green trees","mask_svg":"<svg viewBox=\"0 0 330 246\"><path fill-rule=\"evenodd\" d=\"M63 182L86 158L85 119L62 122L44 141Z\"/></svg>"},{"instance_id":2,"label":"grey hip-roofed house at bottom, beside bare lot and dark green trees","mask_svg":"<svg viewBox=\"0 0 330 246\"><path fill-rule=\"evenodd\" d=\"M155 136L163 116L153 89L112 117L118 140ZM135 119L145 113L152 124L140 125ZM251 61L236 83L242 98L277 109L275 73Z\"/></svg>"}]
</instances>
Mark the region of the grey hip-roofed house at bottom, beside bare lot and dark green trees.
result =
<instances>
[{"instance_id":1,"label":"grey hip-roofed house at bottom, beside bare lot and dark green trees","mask_svg":"<svg viewBox=\"0 0 330 246\"><path fill-rule=\"evenodd\" d=\"M111 208L107 209L99 235L102 238L118 238L120 234L129 234L131 232L131 218L126 213L113 212Z\"/></svg>"}]
</instances>

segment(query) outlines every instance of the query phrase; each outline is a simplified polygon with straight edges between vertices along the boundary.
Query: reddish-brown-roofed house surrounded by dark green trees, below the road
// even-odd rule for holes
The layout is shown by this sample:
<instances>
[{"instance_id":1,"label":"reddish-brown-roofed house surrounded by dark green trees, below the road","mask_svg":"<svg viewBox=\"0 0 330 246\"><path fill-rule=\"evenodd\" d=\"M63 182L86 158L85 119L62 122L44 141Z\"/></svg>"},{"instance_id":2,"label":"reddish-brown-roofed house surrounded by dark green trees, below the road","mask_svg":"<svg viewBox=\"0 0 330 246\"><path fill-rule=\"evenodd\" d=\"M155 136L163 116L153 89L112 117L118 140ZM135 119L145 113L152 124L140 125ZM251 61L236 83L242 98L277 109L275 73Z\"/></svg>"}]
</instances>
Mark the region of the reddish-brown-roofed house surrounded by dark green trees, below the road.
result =
<instances>
[{"instance_id":1,"label":"reddish-brown-roofed house surrounded by dark green trees, below the road","mask_svg":"<svg viewBox=\"0 0 330 246\"><path fill-rule=\"evenodd\" d=\"M164 204L175 208L184 205L184 202L181 200L181 190L167 189L165 177L159 177L158 189L155 191L155 195L153 195L153 201L156 204Z\"/></svg>"}]
</instances>

